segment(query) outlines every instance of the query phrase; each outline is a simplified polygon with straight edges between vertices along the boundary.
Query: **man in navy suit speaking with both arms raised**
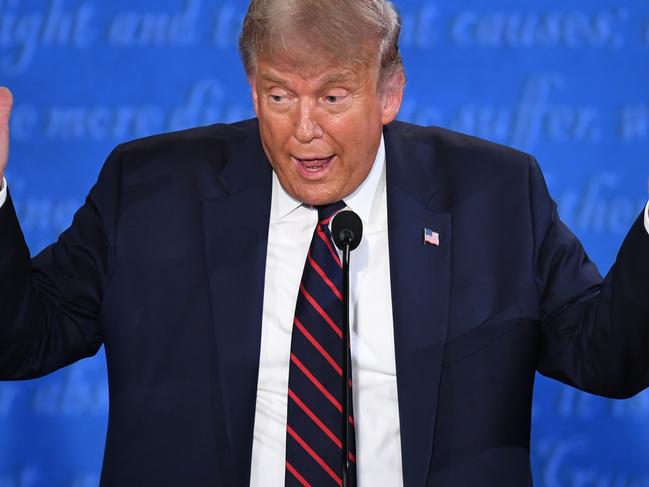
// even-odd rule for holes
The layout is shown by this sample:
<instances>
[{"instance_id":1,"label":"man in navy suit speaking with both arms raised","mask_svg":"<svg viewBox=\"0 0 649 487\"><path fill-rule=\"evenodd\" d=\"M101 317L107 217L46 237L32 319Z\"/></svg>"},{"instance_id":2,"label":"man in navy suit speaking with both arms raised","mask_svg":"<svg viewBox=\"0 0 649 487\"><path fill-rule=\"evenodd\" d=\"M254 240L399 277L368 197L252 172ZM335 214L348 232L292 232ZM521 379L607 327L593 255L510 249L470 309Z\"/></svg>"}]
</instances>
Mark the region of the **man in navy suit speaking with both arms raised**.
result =
<instances>
[{"instance_id":1,"label":"man in navy suit speaking with both arms raised","mask_svg":"<svg viewBox=\"0 0 649 487\"><path fill-rule=\"evenodd\" d=\"M311 336L305 300L326 314L304 282L322 270L318 213L341 200L366 234L352 260L358 485L530 485L535 370L610 397L649 384L646 214L602 281L530 156L394 122L398 36L382 0L255 0L241 52L257 119L118 147L33 262L0 194L0 376L105 345L104 485L340 485L293 429L316 394L292 393L295 374L319 383L293 346Z\"/></svg>"}]
</instances>

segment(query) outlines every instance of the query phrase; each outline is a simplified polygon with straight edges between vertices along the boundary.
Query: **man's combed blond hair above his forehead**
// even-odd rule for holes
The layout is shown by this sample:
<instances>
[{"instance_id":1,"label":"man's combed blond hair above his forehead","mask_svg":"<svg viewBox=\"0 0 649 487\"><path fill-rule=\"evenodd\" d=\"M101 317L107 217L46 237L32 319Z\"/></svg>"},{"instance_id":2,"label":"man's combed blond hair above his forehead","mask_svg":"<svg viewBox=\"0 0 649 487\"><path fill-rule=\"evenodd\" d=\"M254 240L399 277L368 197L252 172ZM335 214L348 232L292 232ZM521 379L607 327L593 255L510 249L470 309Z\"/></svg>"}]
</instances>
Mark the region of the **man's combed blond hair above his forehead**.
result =
<instances>
[{"instance_id":1,"label":"man's combed blond hair above his forehead","mask_svg":"<svg viewBox=\"0 0 649 487\"><path fill-rule=\"evenodd\" d=\"M251 0L239 52L248 75L258 57L287 51L291 41L351 63L373 61L378 52L386 79L403 70L400 32L399 14L386 0Z\"/></svg>"}]
</instances>

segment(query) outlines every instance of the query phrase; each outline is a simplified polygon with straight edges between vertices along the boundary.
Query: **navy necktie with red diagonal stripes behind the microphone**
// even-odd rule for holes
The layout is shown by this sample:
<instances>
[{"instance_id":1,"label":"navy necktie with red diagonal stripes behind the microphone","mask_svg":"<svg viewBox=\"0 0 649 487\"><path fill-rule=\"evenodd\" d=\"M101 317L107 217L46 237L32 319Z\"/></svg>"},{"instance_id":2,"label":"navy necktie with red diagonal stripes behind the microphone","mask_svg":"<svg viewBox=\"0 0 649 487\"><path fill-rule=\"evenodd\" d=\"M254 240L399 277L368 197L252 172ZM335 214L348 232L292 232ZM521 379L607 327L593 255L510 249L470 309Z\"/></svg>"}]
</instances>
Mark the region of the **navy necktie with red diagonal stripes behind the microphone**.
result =
<instances>
[{"instance_id":1,"label":"navy necktie with red diagonal stripes behind the microphone","mask_svg":"<svg viewBox=\"0 0 649 487\"><path fill-rule=\"evenodd\" d=\"M318 225L295 306L288 380L286 486L342 485L343 273L329 221L344 207L342 201L318 207ZM349 414L349 485L356 486L351 401Z\"/></svg>"}]
</instances>

